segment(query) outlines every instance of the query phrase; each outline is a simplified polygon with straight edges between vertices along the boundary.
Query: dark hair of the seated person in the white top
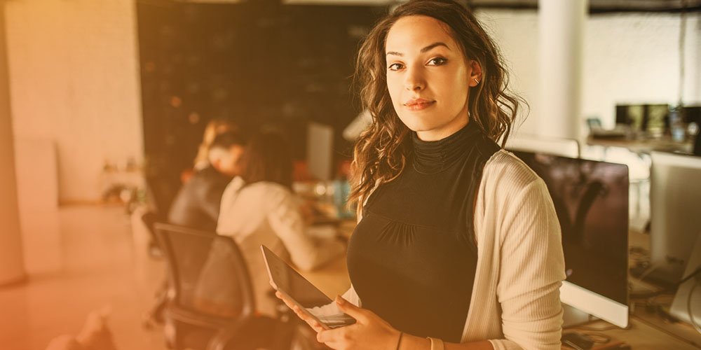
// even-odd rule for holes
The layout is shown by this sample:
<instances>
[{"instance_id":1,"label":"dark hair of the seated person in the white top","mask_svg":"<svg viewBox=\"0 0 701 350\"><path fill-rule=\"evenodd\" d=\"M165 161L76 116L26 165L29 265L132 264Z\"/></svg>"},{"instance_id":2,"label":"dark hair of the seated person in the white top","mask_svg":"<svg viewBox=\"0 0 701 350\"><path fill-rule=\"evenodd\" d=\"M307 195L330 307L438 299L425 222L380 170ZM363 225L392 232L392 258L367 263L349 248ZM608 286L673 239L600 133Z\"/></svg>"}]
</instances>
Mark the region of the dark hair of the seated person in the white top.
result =
<instances>
[{"instance_id":1,"label":"dark hair of the seated person in the white top","mask_svg":"<svg viewBox=\"0 0 701 350\"><path fill-rule=\"evenodd\" d=\"M238 165L247 184L269 181L292 188L292 155L287 141L278 132L255 134Z\"/></svg>"}]
</instances>

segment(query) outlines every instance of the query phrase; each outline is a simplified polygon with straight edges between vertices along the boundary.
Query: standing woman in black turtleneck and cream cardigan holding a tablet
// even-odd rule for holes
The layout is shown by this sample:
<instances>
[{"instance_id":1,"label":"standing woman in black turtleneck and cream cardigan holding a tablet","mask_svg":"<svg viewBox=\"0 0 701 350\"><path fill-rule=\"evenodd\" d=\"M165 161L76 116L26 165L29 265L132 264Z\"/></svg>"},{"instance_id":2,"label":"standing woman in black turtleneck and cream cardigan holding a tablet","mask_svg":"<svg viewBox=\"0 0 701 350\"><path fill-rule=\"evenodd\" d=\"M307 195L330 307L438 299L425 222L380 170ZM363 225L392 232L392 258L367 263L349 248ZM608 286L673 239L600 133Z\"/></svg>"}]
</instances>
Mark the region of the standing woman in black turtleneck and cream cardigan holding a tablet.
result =
<instances>
[{"instance_id":1,"label":"standing woman in black turtleneck and cream cardigan holding a tablet","mask_svg":"<svg viewBox=\"0 0 701 350\"><path fill-rule=\"evenodd\" d=\"M355 146L360 220L336 304L358 322L324 330L291 307L333 349L559 349L559 224L543 181L496 144L519 103L474 15L402 4L356 74L372 125Z\"/></svg>"}]
</instances>

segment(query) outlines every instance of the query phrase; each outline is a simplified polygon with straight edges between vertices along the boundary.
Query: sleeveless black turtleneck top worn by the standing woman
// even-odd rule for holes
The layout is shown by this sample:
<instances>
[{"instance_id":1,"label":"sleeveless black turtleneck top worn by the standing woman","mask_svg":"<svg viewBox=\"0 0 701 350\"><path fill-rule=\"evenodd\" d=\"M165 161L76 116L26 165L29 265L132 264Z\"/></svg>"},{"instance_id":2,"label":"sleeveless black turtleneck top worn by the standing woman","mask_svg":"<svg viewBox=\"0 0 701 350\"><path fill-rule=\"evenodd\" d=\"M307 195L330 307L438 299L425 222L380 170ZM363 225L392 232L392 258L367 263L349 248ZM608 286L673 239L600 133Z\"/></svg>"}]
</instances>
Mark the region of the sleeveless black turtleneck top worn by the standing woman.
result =
<instances>
[{"instance_id":1,"label":"sleeveless black turtleneck top worn by the standing woman","mask_svg":"<svg viewBox=\"0 0 701 350\"><path fill-rule=\"evenodd\" d=\"M394 328L460 342L477 265L475 200L499 146L473 122L440 141L414 133L412 144L402 174L363 207L348 272L362 307Z\"/></svg>"}]
</instances>

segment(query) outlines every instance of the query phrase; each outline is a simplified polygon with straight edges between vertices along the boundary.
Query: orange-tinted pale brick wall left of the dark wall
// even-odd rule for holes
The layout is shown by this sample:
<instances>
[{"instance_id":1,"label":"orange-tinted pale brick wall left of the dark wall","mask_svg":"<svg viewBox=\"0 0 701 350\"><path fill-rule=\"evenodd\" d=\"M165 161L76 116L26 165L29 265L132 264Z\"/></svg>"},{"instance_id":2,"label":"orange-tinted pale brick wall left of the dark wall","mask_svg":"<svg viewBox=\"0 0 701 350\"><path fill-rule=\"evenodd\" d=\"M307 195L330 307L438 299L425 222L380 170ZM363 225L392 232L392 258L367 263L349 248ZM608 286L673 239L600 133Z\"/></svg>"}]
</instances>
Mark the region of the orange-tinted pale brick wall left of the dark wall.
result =
<instances>
[{"instance_id":1,"label":"orange-tinted pale brick wall left of the dark wall","mask_svg":"<svg viewBox=\"0 0 701 350\"><path fill-rule=\"evenodd\" d=\"M106 160L142 159L135 1L4 6L15 139L55 142L61 202L98 200Z\"/></svg>"}]
</instances>

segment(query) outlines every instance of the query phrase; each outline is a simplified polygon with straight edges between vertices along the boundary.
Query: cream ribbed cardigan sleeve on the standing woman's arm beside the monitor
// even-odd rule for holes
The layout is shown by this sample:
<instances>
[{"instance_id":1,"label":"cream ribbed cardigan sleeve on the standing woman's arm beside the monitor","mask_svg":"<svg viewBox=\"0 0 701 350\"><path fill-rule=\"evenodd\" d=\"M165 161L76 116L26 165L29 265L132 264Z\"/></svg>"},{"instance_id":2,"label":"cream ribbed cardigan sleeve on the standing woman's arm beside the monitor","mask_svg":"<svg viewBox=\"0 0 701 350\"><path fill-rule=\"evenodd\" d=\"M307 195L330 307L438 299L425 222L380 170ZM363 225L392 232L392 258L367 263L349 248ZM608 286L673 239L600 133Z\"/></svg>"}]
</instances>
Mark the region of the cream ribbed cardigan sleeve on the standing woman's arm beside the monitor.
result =
<instances>
[{"instance_id":1,"label":"cream ribbed cardigan sleeve on the standing woman's arm beside the monitor","mask_svg":"<svg viewBox=\"0 0 701 350\"><path fill-rule=\"evenodd\" d=\"M559 288L564 255L557 214L543 180L536 179L505 202L496 296L505 339L494 349L560 349Z\"/></svg>"}]
</instances>

